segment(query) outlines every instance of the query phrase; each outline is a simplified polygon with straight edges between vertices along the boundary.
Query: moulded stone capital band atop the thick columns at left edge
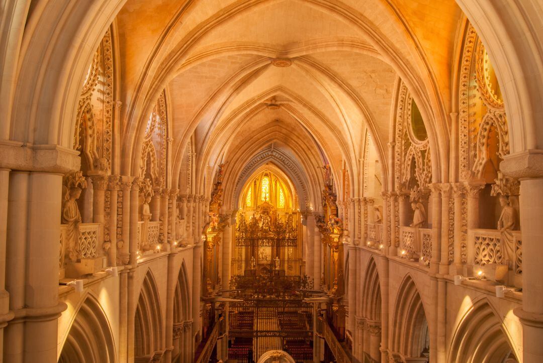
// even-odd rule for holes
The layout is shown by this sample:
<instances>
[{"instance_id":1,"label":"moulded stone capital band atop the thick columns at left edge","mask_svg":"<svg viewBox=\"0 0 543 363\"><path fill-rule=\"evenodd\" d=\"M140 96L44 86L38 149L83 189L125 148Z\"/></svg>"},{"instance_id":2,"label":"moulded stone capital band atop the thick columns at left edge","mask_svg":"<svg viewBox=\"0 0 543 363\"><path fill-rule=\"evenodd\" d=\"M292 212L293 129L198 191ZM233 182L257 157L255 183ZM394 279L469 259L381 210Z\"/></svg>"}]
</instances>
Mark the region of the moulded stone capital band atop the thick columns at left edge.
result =
<instances>
[{"instance_id":1,"label":"moulded stone capital band atop the thick columns at left edge","mask_svg":"<svg viewBox=\"0 0 543 363\"><path fill-rule=\"evenodd\" d=\"M0 141L0 168L24 171L45 171L65 174L79 170L79 151L58 145L33 145L15 141Z\"/></svg>"}]
</instances>

